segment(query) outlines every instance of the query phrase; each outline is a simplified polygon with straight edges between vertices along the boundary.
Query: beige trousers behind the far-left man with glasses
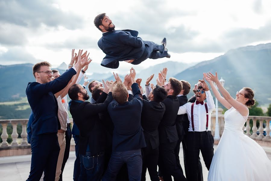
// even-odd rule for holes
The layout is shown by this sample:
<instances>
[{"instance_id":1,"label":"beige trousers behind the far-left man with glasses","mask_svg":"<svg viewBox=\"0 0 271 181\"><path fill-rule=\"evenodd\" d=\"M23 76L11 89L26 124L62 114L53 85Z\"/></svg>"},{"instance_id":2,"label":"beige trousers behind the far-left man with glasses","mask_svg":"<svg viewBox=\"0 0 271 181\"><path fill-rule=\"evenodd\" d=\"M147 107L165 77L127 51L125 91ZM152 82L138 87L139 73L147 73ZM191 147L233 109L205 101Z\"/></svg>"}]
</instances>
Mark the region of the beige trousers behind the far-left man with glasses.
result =
<instances>
[{"instance_id":1,"label":"beige trousers behind the far-left man with glasses","mask_svg":"<svg viewBox=\"0 0 271 181\"><path fill-rule=\"evenodd\" d=\"M56 170L55 170L55 181L59 180L59 176L61 174L61 167L62 167L64 152L65 152L65 148L66 148L65 132L64 133L57 133L57 137L58 137L58 144L60 147L60 151L59 151Z\"/></svg>"}]
</instances>

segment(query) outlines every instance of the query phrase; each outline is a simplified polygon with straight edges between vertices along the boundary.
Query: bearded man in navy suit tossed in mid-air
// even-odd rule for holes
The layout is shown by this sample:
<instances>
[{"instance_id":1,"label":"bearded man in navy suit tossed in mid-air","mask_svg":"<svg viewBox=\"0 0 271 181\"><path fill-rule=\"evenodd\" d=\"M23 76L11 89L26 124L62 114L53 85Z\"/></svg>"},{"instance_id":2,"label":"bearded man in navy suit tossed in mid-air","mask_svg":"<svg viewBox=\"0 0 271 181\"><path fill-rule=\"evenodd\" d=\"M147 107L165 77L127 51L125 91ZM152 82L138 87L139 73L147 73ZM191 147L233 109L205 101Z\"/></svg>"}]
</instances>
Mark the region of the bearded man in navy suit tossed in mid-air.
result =
<instances>
[{"instance_id":1,"label":"bearded man in navy suit tossed in mid-air","mask_svg":"<svg viewBox=\"0 0 271 181\"><path fill-rule=\"evenodd\" d=\"M118 68L119 61L137 65L148 58L170 58L165 48L165 38L161 42L162 45L158 45L151 41L143 41L137 37L137 31L115 30L115 25L106 13L97 15L94 24L102 32L98 46L106 54L101 63L104 67Z\"/></svg>"}]
</instances>

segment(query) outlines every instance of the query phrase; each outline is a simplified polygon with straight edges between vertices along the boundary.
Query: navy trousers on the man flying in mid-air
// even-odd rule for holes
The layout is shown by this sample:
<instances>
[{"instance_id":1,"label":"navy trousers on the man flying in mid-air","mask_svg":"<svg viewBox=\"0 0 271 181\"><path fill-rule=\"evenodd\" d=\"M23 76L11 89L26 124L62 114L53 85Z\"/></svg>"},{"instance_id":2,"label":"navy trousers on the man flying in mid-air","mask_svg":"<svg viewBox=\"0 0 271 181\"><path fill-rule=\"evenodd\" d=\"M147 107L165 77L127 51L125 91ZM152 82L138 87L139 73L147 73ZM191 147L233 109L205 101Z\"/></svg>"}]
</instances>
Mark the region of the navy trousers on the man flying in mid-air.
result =
<instances>
[{"instance_id":1,"label":"navy trousers on the man flying in mid-air","mask_svg":"<svg viewBox=\"0 0 271 181\"><path fill-rule=\"evenodd\" d=\"M158 45L151 41L143 41L143 43L145 43L145 50L143 52L143 55L139 59L134 60L134 62L132 62L131 64L137 65L146 60L147 58L159 59L168 55L168 52L165 51L164 45Z\"/></svg>"}]
</instances>

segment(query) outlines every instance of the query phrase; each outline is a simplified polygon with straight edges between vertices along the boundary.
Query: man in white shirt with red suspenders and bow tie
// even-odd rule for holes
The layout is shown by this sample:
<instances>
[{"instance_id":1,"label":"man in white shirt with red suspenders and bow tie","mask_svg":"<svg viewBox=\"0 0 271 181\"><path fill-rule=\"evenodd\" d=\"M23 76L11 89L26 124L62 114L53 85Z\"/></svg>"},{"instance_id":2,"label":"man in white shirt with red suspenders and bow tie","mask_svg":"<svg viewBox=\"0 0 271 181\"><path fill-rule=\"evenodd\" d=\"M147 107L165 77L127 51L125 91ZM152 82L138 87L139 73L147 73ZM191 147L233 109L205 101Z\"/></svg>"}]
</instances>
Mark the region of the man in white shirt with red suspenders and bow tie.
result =
<instances>
[{"instance_id":1,"label":"man in white shirt with red suspenders and bow tie","mask_svg":"<svg viewBox=\"0 0 271 181\"><path fill-rule=\"evenodd\" d=\"M211 134L211 114L215 109L215 103L204 80L199 80L194 103L188 102L179 107L178 115L187 114L189 129L186 136L186 178L187 180L198 180L199 175L199 154L202 153L207 169L210 169L214 155L214 139ZM207 103L204 100L207 99ZM188 171L188 172L187 172Z\"/></svg>"}]
</instances>

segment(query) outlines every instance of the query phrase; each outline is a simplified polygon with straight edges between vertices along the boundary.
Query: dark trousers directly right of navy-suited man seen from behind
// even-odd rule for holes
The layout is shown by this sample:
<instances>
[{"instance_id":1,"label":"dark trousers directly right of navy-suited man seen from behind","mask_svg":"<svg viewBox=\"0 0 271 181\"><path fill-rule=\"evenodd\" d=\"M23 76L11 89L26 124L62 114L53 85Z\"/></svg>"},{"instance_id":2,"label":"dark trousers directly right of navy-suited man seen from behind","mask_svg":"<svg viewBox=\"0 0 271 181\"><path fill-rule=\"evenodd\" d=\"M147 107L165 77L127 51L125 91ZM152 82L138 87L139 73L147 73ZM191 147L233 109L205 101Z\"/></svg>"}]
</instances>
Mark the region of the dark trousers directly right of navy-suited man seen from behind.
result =
<instances>
[{"instance_id":1,"label":"dark trousers directly right of navy-suited man seen from behind","mask_svg":"<svg viewBox=\"0 0 271 181\"><path fill-rule=\"evenodd\" d=\"M157 173L159 148L152 149L151 145L147 145L147 147L143 148L142 151L143 157L142 157L141 181L146 180L147 168L149 171L151 181L159 181Z\"/></svg>"}]
</instances>

